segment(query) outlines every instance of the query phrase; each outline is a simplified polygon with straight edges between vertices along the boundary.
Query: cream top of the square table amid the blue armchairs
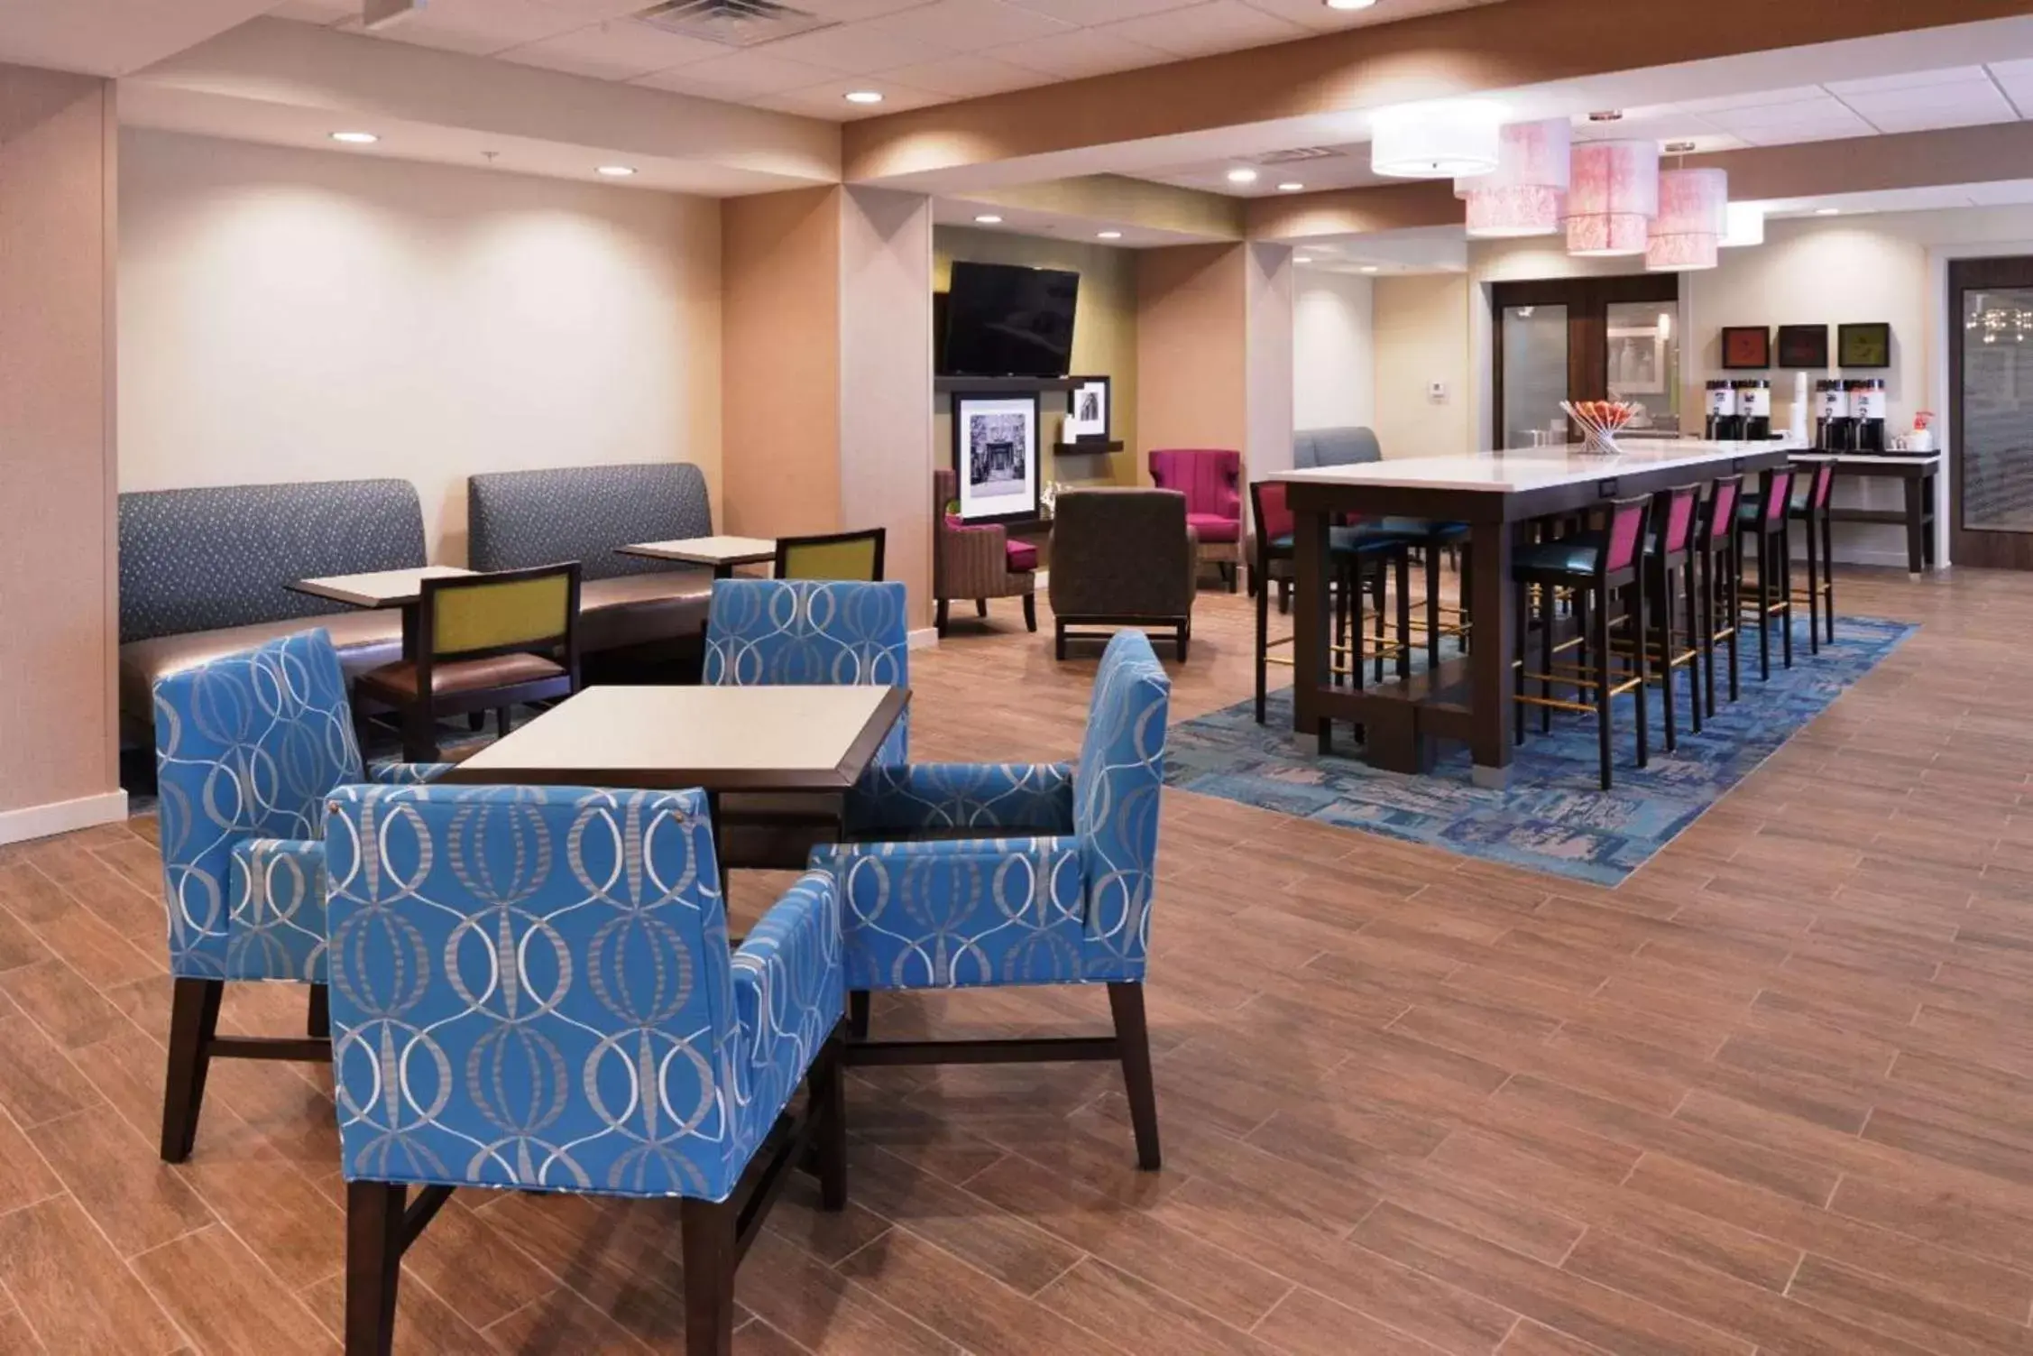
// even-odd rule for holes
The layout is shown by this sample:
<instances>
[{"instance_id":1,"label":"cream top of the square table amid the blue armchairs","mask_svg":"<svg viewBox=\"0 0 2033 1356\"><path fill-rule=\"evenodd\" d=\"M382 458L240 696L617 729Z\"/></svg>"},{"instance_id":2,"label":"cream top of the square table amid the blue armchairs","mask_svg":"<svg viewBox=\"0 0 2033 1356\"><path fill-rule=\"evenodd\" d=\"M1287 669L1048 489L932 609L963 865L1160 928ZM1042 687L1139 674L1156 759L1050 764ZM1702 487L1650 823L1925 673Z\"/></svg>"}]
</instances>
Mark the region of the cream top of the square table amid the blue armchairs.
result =
<instances>
[{"instance_id":1,"label":"cream top of the square table amid the blue armchairs","mask_svg":"<svg viewBox=\"0 0 2033 1356\"><path fill-rule=\"evenodd\" d=\"M899 687L588 687L447 779L846 789L907 697Z\"/></svg>"}]
</instances>

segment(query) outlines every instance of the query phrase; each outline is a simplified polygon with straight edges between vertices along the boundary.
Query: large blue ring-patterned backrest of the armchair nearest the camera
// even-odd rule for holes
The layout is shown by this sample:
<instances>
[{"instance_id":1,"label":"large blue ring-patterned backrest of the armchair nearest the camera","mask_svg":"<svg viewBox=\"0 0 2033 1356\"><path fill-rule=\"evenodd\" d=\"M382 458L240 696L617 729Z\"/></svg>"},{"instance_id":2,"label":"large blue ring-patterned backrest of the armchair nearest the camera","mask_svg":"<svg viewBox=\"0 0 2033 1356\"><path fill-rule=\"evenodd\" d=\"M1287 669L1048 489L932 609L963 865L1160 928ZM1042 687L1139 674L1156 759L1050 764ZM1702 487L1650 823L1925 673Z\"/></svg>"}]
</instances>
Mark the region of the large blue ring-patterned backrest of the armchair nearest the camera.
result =
<instances>
[{"instance_id":1,"label":"large blue ring-patterned backrest of the armchair nearest the camera","mask_svg":"<svg viewBox=\"0 0 2033 1356\"><path fill-rule=\"evenodd\" d=\"M791 1088L744 1053L703 793L346 787L329 811L348 1177L732 1189Z\"/></svg>"}]
</instances>

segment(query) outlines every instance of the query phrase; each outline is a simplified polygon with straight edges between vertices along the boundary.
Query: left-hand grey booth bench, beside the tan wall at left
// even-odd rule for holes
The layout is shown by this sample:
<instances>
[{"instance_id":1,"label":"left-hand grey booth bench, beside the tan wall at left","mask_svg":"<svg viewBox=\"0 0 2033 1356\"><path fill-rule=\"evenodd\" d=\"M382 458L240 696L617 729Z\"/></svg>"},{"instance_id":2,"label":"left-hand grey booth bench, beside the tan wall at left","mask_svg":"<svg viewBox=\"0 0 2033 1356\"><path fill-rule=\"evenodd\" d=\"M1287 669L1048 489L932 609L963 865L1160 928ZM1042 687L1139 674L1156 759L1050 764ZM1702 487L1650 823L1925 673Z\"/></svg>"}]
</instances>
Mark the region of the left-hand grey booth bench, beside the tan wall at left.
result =
<instances>
[{"instance_id":1,"label":"left-hand grey booth bench, beside the tan wall at left","mask_svg":"<svg viewBox=\"0 0 2033 1356\"><path fill-rule=\"evenodd\" d=\"M348 677L401 659L398 612L362 612L289 585L423 565L423 510L407 480L122 494L122 736L148 744L163 675L305 626L329 632Z\"/></svg>"}]
</instances>

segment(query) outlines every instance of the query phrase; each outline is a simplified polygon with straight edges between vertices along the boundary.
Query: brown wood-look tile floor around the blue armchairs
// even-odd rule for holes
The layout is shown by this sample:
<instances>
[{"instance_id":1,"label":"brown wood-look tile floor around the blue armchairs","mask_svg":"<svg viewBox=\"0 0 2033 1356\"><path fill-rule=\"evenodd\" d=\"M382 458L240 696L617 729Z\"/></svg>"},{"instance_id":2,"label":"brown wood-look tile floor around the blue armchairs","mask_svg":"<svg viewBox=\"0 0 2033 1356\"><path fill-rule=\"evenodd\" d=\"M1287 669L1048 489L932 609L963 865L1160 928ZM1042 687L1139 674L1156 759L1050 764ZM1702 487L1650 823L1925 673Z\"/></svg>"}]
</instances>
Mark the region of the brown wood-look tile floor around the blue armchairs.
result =
<instances>
[{"instance_id":1,"label":"brown wood-look tile floor around the blue armchairs","mask_svg":"<svg viewBox=\"0 0 2033 1356\"><path fill-rule=\"evenodd\" d=\"M860 1075L854 1204L789 1189L736 1346L2033 1350L2033 575L1846 575L1842 604L1923 630L1616 890L1167 793L1165 1171L1110 1067ZM1094 657L1053 663L1014 604L913 663L919 758L1073 752ZM1242 600L1206 594L1169 667L1175 718L1244 697ZM0 1352L333 1350L325 1071L213 1065L197 1155L157 1163L150 834L0 850ZM295 988L226 1004L301 1021ZM677 1350L679 1293L671 1208L468 1193L409 1258L398 1350Z\"/></svg>"}]
</instances>

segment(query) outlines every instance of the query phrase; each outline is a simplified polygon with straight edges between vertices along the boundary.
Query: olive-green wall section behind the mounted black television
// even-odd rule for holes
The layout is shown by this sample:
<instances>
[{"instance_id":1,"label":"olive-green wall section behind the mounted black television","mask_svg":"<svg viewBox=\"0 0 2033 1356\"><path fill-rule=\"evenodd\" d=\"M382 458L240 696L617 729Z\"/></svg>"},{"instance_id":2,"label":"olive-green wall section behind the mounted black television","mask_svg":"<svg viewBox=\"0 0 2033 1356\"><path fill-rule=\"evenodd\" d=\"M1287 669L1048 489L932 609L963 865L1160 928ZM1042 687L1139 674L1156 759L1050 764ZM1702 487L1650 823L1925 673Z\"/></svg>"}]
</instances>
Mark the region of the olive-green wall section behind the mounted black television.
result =
<instances>
[{"instance_id":1,"label":"olive-green wall section behind the mounted black television","mask_svg":"<svg viewBox=\"0 0 2033 1356\"><path fill-rule=\"evenodd\" d=\"M1136 252L1084 240L1053 240L1049 236L1016 236L1010 232L939 226L931 232L931 287L945 291L953 260L980 264L1025 264L1031 268L1069 268L1080 274L1080 301L1073 307L1073 372L1108 376L1114 411L1110 423L1124 451L1114 455L1065 457L1059 461L1049 445L1059 441L1065 419L1065 396L1041 396L1047 445L1045 482L1067 484L1136 484ZM935 455L951 459L951 400L939 398L933 429Z\"/></svg>"}]
</instances>

